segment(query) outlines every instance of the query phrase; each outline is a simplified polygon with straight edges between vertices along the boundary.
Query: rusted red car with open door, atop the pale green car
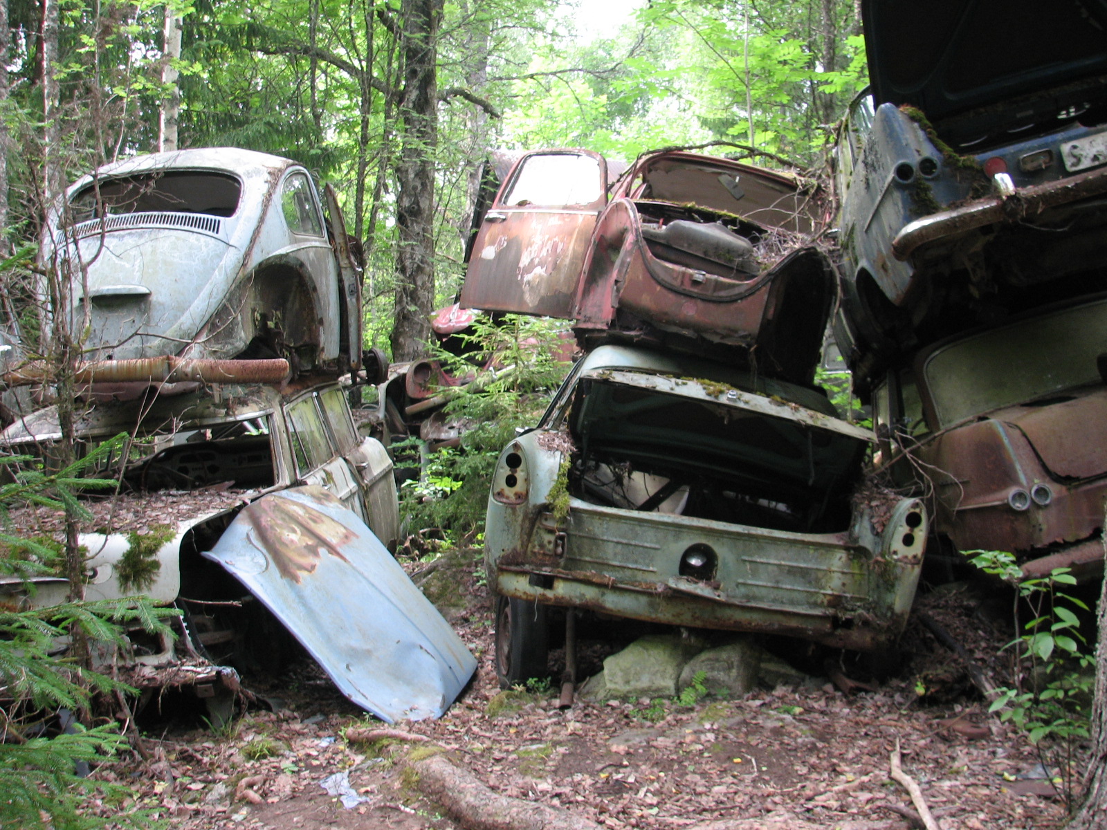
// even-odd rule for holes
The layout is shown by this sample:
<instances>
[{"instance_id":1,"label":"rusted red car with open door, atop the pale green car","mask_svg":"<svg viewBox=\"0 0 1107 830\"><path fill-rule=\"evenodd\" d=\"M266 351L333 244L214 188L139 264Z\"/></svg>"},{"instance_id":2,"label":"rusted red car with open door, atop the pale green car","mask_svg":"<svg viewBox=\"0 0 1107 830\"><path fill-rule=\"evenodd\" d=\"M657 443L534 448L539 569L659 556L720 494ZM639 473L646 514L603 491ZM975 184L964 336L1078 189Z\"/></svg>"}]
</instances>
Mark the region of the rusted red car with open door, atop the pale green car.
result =
<instances>
[{"instance_id":1,"label":"rusted red car with open door, atop the pale green car","mask_svg":"<svg viewBox=\"0 0 1107 830\"><path fill-rule=\"evenodd\" d=\"M463 305L573 321L586 347L654 342L810 382L836 291L804 181L668 151L607 187L596 153L520 158L485 216Z\"/></svg>"}]
</instances>

